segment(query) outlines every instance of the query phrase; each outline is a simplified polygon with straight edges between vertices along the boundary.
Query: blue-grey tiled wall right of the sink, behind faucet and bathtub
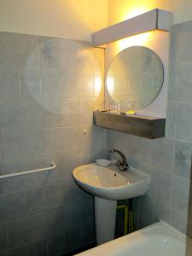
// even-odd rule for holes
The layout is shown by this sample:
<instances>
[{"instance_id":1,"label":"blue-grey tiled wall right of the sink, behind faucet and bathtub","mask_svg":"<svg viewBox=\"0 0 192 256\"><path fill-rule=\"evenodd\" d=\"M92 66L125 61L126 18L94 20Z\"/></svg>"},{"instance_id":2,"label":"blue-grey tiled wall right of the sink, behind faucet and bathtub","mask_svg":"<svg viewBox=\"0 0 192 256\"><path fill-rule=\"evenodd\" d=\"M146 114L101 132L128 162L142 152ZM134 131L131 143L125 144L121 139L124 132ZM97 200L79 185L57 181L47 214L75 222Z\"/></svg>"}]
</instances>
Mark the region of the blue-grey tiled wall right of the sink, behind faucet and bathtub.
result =
<instances>
[{"instance_id":1,"label":"blue-grey tiled wall right of the sink, behind faucet and bathtub","mask_svg":"<svg viewBox=\"0 0 192 256\"><path fill-rule=\"evenodd\" d=\"M186 232L192 156L192 21L172 26L166 137L148 140L108 132L117 148L152 180L147 195L134 200L136 226L159 218Z\"/></svg>"}]
</instances>

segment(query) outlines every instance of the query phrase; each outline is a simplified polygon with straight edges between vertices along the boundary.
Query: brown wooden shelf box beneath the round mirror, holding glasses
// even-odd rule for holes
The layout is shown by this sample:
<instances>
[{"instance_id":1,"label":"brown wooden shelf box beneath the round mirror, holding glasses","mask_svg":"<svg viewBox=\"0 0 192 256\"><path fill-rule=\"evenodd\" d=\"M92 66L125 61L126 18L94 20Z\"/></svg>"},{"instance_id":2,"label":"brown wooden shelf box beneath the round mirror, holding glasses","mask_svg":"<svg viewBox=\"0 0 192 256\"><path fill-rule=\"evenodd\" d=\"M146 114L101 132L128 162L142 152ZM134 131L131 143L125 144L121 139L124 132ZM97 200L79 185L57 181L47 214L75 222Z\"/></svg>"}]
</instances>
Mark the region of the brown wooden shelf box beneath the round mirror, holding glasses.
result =
<instances>
[{"instance_id":1,"label":"brown wooden shelf box beneath the round mirror, holding glasses","mask_svg":"<svg viewBox=\"0 0 192 256\"><path fill-rule=\"evenodd\" d=\"M150 139L165 137L166 119L143 115L122 115L120 113L96 110L94 124L114 131Z\"/></svg>"}]
</instances>

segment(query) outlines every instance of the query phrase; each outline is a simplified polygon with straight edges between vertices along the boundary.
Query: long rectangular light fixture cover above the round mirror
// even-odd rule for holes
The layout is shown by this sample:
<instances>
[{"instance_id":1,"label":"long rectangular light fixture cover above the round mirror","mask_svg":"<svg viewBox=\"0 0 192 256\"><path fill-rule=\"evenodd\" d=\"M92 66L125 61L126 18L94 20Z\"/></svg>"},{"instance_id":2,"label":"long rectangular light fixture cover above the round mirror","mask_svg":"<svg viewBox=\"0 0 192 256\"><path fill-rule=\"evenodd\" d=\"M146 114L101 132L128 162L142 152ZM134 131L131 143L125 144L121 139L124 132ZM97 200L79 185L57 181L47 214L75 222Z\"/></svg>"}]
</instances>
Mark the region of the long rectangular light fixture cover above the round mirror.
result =
<instances>
[{"instance_id":1,"label":"long rectangular light fixture cover above the round mirror","mask_svg":"<svg viewBox=\"0 0 192 256\"><path fill-rule=\"evenodd\" d=\"M171 12L162 9L153 9L143 15L137 15L129 20L119 22L93 33L93 46L101 46L122 38L128 38L153 30L169 32L171 25Z\"/></svg>"}]
</instances>

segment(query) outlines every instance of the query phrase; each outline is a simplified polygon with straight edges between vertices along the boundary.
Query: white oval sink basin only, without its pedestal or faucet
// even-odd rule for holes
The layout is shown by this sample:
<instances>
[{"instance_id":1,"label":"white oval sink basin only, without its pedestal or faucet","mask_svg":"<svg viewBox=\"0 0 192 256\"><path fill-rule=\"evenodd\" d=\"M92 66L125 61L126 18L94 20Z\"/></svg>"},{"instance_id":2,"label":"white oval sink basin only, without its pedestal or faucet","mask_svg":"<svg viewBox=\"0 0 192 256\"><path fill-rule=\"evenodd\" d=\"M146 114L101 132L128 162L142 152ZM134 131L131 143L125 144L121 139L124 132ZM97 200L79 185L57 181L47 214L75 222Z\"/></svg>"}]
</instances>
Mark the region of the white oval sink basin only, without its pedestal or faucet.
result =
<instances>
[{"instance_id":1,"label":"white oval sink basin only, without its pedestal or faucet","mask_svg":"<svg viewBox=\"0 0 192 256\"><path fill-rule=\"evenodd\" d=\"M117 166L89 164L73 170L73 178L82 189L92 195L123 200L143 195L148 189L148 175L135 169L120 172Z\"/></svg>"}]
</instances>

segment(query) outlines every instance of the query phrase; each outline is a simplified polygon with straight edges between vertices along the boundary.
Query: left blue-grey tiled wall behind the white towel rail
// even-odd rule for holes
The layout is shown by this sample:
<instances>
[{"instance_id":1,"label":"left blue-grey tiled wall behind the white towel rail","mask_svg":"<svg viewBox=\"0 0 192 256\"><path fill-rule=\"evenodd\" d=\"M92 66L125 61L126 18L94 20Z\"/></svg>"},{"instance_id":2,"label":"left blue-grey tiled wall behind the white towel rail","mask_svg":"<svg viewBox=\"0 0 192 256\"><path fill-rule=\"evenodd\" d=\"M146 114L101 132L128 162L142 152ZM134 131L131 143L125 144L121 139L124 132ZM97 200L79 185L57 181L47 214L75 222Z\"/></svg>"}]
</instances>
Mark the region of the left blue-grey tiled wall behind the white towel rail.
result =
<instances>
[{"instance_id":1,"label":"left blue-grey tiled wall behind the white towel rail","mask_svg":"<svg viewBox=\"0 0 192 256\"><path fill-rule=\"evenodd\" d=\"M0 255L61 255L94 242L93 201L74 166L105 154L92 126L103 104L103 50L0 33L0 170L57 168L0 180Z\"/></svg>"}]
</instances>

